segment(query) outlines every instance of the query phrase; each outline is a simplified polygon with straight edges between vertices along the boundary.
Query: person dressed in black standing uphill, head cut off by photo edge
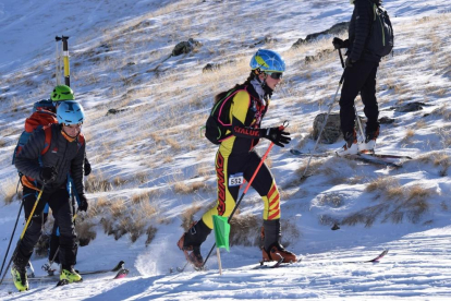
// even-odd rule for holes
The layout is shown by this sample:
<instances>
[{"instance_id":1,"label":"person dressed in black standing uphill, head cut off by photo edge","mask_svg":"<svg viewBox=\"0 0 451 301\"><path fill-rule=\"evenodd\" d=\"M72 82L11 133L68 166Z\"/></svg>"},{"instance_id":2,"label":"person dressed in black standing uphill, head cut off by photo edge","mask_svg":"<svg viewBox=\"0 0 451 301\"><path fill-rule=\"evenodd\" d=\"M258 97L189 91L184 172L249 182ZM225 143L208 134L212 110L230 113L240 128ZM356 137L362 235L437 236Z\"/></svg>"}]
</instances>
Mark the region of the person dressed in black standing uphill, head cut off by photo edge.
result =
<instances>
[{"instance_id":1,"label":"person dressed in black standing uphill, head cut off by photo edge","mask_svg":"<svg viewBox=\"0 0 451 301\"><path fill-rule=\"evenodd\" d=\"M376 73L381 57L368 47L369 34L375 17L374 5L380 5L380 0L350 0L354 4L349 27L349 39L333 38L333 46L348 48L344 82L340 98L341 131L345 144L337 154L339 156L354 155L358 152L374 152L376 139L379 135L379 108L376 99ZM365 142L357 145L354 129L354 99L361 93L367 118Z\"/></svg>"}]
</instances>

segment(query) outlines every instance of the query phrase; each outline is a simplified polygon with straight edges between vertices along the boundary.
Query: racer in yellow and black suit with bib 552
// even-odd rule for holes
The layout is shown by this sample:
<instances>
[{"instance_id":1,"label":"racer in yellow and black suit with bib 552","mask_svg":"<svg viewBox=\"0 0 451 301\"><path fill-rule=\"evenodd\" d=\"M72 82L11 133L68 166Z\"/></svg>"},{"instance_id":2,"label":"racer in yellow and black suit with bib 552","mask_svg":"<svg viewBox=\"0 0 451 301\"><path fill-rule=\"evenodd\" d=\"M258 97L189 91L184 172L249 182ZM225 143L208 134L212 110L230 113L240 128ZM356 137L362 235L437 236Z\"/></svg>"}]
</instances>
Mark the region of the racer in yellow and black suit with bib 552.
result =
<instances>
[{"instance_id":1,"label":"racer in yellow and black suit with bib 552","mask_svg":"<svg viewBox=\"0 0 451 301\"><path fill-rule=\"evenodd\" d=\"M195 267L202 267L204 258L200 244L212 229L212 215L230 216L240 191L231 179L249 181L261 158L255 146L259 139L268 139L283 147L290 143L290 133L279 128L261 129L261 120L268 110L273 89L282 79L285 62L279 53L259 49L251 60L251 75L233 89L220 93L216 103L232 97L230 111L222 112L230 120L230 135L220 143L216 154L218 205L204 214L200 220L182 236L176 243L184 251L186 260ZM221 117L222 118L222 117ZM296 256L280 244L280 194L269 168L264 164L252 186L260 194L264 203L264 261L294 262Z\"/></svg>"}]
</instances>

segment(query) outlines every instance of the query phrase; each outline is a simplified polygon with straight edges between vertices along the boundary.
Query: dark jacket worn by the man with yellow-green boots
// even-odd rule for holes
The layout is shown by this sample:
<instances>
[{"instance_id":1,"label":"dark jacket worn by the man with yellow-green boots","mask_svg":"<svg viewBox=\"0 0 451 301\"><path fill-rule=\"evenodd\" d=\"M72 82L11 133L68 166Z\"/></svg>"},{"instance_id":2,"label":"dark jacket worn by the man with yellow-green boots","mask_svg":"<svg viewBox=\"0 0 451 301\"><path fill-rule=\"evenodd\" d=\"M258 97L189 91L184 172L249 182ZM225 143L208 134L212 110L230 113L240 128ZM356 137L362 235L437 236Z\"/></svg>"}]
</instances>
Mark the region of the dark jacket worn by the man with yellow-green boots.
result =
<instances>
[{"instance_id":1,"label":"dark jacket worn by the man with yellow-green boots","mask_svg":"<svg viewBox=\"0 0 451 301\"><path fill-rule=\"evenodd\" d=\"M41 186L40 169L45 166L53 166L58 176L53 182L46 185L45 191L53 191L68 181L68 174L74 181L74 185L78 194L84 194L83 184L83 164L85 160L85 142L81 143L77 137L73 142L69 142L61 133L61 124L54 123L51 128L51 142L48 150L41 155L45 148L46 134L42 129L36 130L21 153L15 158L15 167L23 174L37 181L36 186Z\"/></svg>"}]
</instances>

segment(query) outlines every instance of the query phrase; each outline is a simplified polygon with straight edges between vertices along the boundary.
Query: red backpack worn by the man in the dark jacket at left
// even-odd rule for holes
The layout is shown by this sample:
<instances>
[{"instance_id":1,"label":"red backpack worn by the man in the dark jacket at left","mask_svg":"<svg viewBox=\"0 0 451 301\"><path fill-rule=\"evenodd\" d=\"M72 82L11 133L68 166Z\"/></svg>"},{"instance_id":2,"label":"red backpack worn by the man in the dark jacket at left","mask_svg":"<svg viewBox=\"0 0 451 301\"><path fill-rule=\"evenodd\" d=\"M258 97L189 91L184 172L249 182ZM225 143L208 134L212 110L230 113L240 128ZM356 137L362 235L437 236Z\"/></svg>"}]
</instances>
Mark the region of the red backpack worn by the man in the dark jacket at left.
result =
<instances>
[{"instance_id":1,"label":"red backpack worn by the man in the dark jacket at left","mask_svg":"<svg viewBox=\"0 0 451 301\"><path fill-rule=\"evenodd\" d=\"M47 110L37 110L25 120L25 131L23 131L22 134L19 136L17 145L14 148L14 154L12 158L13 165L15 162L15 157L17 156L19 153L21 153L22 148L24 147L26 142L29 140L33 132L37 129L44 128L45 130L46 147L42 149L41 155L47 153L47 150L50 147L51 131L50 131L50 127L46 127L46 125L51 125L52 123L58 123L58 119L54 113L47 111Z\"/></svg>"}]
</instances>

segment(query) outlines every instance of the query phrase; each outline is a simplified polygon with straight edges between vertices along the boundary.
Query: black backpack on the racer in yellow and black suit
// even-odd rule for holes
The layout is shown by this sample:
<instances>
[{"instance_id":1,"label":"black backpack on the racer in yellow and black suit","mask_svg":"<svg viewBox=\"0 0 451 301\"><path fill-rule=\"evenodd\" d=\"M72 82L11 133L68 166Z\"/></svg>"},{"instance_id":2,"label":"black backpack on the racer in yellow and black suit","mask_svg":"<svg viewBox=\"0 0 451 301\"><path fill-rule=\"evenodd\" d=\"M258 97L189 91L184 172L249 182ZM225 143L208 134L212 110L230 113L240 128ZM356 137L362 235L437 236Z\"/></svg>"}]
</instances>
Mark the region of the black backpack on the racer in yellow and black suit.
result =
<instances>
[{"instance_id":1,"label":"black backpack on the racer in yellow and black suit","mask_svg":"<svg viewBox=\"0 0 451 301\"><path fill-rule=\"evenodd\" d=\"M208 117L205 124L205 137L208 139L208 141L210 141L212 144L221 144L222 141L232 136L230 107L233 96L243 89L245 89L245 87L237 87L228 91L227 95L218 103L216 103L211 108L210 116Z\"/></svg>"}]
</instances>

